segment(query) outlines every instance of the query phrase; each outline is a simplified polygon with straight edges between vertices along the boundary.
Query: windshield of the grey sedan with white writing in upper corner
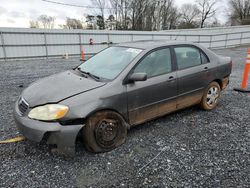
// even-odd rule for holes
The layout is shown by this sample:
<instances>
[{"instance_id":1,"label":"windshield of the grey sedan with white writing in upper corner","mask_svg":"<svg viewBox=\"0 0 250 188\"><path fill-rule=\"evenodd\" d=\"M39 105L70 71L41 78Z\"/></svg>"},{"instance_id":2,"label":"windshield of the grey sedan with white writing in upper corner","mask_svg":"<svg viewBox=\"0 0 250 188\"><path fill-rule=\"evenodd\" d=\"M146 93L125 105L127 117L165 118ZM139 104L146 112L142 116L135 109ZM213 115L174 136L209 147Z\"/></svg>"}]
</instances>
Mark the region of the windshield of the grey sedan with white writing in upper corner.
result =
<instances>
[{"instance_id":1,"label":"windshield of the grey sedan with white writing in upper corner","mask_svg":"<svg viewBox=\"0 0 250 188\"><path fill-rule=\"evenodd\" d=\"M141 51L137 48L109 47L81 64L78 70L113 80Z\"/></svg>"}]
</instances>

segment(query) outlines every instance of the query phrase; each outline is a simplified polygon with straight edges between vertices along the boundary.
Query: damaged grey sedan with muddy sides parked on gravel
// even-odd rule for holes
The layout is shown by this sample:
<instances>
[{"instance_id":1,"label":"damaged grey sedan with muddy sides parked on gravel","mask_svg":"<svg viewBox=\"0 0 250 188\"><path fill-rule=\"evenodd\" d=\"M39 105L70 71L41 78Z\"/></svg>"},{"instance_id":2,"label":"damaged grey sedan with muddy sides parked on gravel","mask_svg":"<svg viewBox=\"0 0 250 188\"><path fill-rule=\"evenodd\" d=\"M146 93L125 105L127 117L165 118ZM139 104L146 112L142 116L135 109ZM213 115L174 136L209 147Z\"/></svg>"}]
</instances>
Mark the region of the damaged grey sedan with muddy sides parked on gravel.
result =
<instances>
[{"instance_id":1,"label":"damaged grey sedan with muddy sides parked on gravel","mask_svg":"<svg viewBox=\"0 0 250 188\"><path fill-rule=\"evenodd\" d=\"M25 137L46 138L61 153L74 154L77 136L89 151L106 152L132 126L192 105L214 109L231 68L231 58L193 43L122 43L31 84L14 117Z\"/></svg>"}]
</instances>

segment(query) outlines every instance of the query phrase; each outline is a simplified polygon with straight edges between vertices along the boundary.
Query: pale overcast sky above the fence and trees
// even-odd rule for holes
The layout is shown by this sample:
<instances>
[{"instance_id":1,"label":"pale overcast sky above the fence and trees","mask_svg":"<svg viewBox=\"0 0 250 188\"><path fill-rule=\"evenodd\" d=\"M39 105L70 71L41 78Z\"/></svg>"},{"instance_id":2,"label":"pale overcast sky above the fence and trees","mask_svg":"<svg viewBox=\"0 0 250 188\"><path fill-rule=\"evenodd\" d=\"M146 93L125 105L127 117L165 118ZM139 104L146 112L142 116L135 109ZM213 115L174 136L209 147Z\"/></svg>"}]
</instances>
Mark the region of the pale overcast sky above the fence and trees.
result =
<instances>
[{"instance_id":1,"label":"pale overcast sky above the fence and trees","mask_svg":"<svg viewBox=\"0 0 250 188\"><path fill-rule=\"evenodd\" d=\"M55 0L57 2L91 5L91 0ZM225 3L218 3L217 17L221 22L226 21ZM41 14L56 18L58 24L64 24L66 17L83 20L86 14L98 14L97 10L87 8L56 5L42 0L0 0L0 27L29 27L30 20L36 20ZM175 0L178 6L183 3L194 3L195 0Z\"/></svg>"}]
</instances>

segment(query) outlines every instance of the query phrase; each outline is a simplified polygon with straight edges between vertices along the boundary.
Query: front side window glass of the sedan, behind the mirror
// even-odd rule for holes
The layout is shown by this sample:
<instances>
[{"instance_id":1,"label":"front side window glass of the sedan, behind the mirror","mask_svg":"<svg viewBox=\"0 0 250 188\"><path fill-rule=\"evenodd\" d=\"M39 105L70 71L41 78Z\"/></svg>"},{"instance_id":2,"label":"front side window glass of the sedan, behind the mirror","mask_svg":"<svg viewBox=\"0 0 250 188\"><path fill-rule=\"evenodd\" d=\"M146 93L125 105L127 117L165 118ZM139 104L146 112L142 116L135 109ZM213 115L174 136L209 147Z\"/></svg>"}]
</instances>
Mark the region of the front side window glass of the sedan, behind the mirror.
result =
<instances>
[{"instance_id":1,"label":"front side window glass of the sedan, behind the mirror","mask_svg":"<svg viewBox=\"0 0 250 188\"><path fill-rule=\"evenodd\" d=\"M172 70L169 48L160 49L147 55L134 69L134 73L147 73L148 78L169 73Z\"/></svg>"}]
</instances>

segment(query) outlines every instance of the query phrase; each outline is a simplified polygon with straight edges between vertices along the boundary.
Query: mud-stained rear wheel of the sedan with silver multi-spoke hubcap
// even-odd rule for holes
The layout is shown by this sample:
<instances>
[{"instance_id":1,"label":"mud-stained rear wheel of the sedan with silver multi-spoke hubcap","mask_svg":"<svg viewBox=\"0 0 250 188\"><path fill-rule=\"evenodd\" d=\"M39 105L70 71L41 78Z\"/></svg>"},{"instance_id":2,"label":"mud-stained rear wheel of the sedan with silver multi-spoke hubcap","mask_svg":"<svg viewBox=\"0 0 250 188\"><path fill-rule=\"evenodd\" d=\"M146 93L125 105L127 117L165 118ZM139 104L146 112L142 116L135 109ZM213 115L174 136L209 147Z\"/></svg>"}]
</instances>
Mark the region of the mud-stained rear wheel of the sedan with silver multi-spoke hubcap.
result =
<instances>
[{"instance_id":1,"label":"mud-stained rear wheel of the sedan with silver multi-spoke hubcap","mask_svg":"<svg viewBox=\"0 0 250 188\"><path fill-rule=\"evenodd\" d=\"M217 82L210 83L203 94L201 108L204 110L214 109L218 104L220 93L220 85Z\"/></svg>"}]
</instances>

